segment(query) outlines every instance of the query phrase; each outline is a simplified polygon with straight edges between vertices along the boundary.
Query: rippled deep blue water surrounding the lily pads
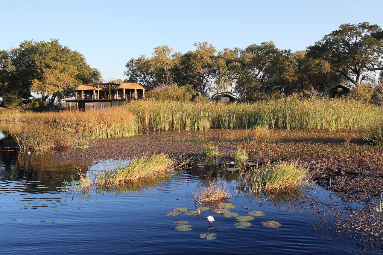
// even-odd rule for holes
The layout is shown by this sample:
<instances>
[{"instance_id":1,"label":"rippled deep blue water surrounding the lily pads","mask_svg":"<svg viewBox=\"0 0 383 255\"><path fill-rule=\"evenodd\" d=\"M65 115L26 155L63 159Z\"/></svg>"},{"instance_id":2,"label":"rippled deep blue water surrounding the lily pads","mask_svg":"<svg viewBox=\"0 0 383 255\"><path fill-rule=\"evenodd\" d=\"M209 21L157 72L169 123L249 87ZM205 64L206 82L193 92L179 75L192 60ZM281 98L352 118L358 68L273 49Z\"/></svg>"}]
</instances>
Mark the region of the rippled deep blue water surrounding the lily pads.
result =
<instances>
[{"instance_id":1,"label":"rippled deep blue water surrounding the lily pads","mask_svg":"<svg viewBox=\"0 0 383 255\"><path fill-rule=\"evenodd\" d=\"M252 210L265 213L255 217L252 226L238 229L234 218L211 211L201 212L200 217L166 216L174 208L199 207L193 193L214 177L234 190L236 173L199 169L130 190L67 194L62 185L71 176L76 178L75 167L96 171L99 166L55 162L49 153L20 154L7 134L0 132L0 140L0 254L360 253L336 235L335 218L327 217L326 204L335 208L363 204L344 203L321 188L288 201L236 194L231 202L237 207L230 211L240 216ZM325 214L312 209L313 201ZM216 219L211 230L207 230L209 215ZM323 218L326 223L321 223ZM173 222L180 220L190 221L193 230L175 230ZM268 220L282 227L262 226ZM216 233L217 239L201 239L206 232Z\"/></svg>"}]
</instances>

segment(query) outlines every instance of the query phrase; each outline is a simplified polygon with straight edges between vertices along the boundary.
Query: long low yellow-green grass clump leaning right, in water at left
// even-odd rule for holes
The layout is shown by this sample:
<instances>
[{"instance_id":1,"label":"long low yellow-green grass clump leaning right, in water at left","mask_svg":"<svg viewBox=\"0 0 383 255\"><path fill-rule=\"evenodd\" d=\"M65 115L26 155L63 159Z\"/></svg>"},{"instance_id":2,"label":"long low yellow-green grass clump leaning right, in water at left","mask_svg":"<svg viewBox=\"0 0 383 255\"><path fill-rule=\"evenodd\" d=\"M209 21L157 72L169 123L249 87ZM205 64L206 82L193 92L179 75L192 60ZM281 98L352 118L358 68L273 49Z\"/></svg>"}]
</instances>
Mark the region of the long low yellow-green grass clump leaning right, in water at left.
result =
<instances>
[{"instance_id":1,"label":"long low yellow-green grass clump leaning right, in water at left","mask_svg":"<svg viewBox=\"0 0 383 255\"><path fill-rule=\"evenodd\" d=\"M175 169L175 160L165 154L134 157L129 163L118 164L93 175L79 172L80 181L75 190L90 186L120 186L126 183L157 178Z\"/></svg>"}]
</instances>

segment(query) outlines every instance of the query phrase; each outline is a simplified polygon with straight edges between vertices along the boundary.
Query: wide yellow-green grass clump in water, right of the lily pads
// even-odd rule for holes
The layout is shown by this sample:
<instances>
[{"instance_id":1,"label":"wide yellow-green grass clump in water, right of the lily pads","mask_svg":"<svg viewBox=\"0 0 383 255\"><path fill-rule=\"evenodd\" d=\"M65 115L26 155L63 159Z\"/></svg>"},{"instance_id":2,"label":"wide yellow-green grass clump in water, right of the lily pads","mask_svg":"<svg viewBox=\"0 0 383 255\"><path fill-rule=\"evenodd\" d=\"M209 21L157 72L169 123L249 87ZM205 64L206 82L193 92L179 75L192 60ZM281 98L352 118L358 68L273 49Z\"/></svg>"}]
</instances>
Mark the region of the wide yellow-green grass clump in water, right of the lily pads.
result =
<instances>
[{"instance_id":1,"label":"wide yellow-green grass clump in water, right of the lily pads","mask_svg":"<svg viewBox=\"0 0 383 255\"><path fill-rule=\"evenodd\" d=\"M308 184L307 170L296 162L280 161L251 168L241 177L246 190L254 193L299 188Z\"/></svg>"}]
</instances>

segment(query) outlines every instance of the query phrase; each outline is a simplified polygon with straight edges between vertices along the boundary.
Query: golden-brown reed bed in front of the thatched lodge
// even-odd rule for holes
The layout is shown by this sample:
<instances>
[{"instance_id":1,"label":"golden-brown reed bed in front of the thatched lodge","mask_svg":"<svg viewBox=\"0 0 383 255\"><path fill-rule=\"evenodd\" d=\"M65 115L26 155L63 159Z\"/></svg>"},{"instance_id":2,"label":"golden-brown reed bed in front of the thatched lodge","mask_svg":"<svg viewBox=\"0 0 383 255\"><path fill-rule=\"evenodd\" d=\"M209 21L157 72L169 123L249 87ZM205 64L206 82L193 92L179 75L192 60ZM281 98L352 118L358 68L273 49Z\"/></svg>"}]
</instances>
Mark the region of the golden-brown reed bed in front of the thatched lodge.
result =
<instances>
[{"instance_id":1,"label":"golden-brown reed bed in front of the thatched lodge","mask_svg":"<svg viewBox=\"0 0 383 255\"><path fill-rule=\"evenodd\" d=\"M137 134L136 117L126 108L91 112L25 112L16 116L19 122L9 132L23 150L43 151L67 146L82 149L88 147L90 139Z\"/></svg>"}]
</instances>

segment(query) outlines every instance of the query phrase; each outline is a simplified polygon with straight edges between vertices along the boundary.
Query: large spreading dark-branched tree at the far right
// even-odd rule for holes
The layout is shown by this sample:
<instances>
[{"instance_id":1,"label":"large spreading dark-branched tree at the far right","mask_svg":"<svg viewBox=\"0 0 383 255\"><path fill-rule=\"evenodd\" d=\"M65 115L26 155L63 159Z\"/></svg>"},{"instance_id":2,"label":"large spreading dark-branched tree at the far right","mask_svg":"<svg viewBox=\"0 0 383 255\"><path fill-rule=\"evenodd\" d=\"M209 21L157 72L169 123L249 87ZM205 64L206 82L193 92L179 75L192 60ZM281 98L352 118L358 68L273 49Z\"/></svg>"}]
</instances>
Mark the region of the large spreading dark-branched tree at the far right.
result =
<instances>
[{"instance_id":1,"label":"large spreading dark-branched tree at the far right","mask_svg":"<svg viewBox=\"0 0 383 255\"><path fill-rule=\"evenodd\" d=\"M309 57L325 60L331 70L354 85L375 80L376 71L383 70L382 29L368 22L339 28L309 46Z\"/></svg>"}]
</instances>

